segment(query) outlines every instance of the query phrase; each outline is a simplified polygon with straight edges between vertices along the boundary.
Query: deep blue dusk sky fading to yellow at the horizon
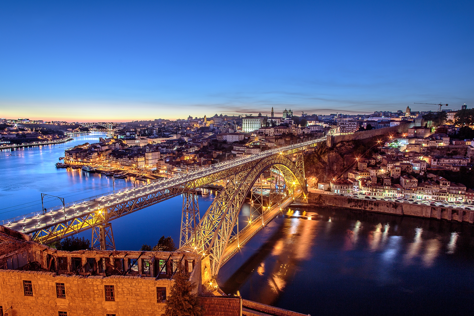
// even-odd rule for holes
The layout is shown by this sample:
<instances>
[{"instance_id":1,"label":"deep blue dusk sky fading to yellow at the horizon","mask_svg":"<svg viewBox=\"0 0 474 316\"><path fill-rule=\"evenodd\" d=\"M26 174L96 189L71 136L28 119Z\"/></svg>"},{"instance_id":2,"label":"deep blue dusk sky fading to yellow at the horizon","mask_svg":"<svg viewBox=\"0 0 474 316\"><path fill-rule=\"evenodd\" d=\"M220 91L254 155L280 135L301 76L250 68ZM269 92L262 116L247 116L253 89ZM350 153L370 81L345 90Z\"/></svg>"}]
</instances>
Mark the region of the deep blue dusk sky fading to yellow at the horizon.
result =
<instances>
[{"instance_id":1,"label":"deep blue dusk sky fading to yellow at the horizon","mask_svg":"<svg viewBox=\"0 0 474 316\"><path fill-rule=\"evenodd\" d=\"M1 1L0 117L468 108L473 1Z\"/></svg>"}]
</instances>

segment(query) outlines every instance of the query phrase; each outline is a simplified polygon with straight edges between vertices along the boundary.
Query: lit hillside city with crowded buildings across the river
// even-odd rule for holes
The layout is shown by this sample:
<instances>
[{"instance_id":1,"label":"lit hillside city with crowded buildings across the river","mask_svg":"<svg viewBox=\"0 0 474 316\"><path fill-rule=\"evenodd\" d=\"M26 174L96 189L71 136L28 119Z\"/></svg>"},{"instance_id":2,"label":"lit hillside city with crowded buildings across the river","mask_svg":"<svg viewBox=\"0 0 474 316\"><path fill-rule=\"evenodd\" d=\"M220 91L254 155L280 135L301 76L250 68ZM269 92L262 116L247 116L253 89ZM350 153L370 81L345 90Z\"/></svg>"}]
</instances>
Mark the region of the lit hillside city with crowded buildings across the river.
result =
<instances>
[{"instance_id":1,"label":"lit hillside city with crowded buildings across the river","mask_svg":"<svg viewBox=\"0 0 474 316\"><path fill-rule=\"evenodd\" d=\"M85 143L65 150L64 163L57 166L90 166L90 170L146 181L185 174L221 161L323 136L351 135L408 124L406 133L392 132L383 141L379 137L377 146L365 156L355 157L354 164L340 175L327 173L324 178L318 178L309 172L309 189L411 203L472 204L471 180L466 186L440 176L472 169L472 112L473 109L463 105L458 111L414 112L407 107L405 112L383 111L370 115L302 112L298 116L291 109L285 109L281 116L276 116L272 108L270 116L227 113L209 118L204 115L176 121L155 119L127 123L1 119L0 148L62 141L77 133L106 131L108 136L100 138L99 143Z\"/></svg>"}]
</instances>

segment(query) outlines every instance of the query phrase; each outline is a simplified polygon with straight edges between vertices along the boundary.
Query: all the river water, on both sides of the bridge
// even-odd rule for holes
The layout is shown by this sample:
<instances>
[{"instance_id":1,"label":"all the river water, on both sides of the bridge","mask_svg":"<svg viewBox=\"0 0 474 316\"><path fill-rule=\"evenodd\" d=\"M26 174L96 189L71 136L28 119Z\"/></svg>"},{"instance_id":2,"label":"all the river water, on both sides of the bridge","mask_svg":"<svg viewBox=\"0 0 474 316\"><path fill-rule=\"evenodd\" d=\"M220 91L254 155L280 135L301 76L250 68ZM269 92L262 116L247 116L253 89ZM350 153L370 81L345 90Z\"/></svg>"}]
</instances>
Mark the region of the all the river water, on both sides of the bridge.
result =
<instances>
[{"instance_id":1,"label":"all the river water, on both sides of the bridge","mask_svg":"<svg viewBox=\"0 0 474 316\"><path fill-rule=\"evenodd\" d=\"M110 191L110 177L54 166L64 149L100 136L0 152L0 219L40 210L40 193L68 203ZM213 198L200 195L201 215ZM45 206L58 204L48 198ZM163 235L179 241L181 208L177 196L113 221L117 249L154 245ZM220 269L218 283L226 293L313 316L471 314L474 226L290 206Z\"/></svg>"}]
</instances>

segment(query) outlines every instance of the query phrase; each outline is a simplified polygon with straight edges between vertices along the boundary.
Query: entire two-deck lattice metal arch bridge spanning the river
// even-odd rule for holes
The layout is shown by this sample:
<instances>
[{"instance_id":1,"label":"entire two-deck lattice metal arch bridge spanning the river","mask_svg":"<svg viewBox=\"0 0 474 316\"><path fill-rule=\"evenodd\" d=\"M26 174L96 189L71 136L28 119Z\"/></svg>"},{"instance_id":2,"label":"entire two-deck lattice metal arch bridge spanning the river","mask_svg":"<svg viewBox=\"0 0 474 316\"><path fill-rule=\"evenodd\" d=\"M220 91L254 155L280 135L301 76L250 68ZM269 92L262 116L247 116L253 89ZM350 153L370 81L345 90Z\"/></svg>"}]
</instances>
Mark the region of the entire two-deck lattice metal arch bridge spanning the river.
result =
<instances>
[{"instance_id":1,"label":"entire two-deck lattice metal arch bridge spanning the river","mask_svg":"<svg viewBox=\"0 0 474 316\"><path fill-rule=\"evenodd\" d=\"M310 140L223 161L173 178L56 206L47 212L18 216L2 224L31 234L33 240L42 244L92 228L92 247L114 250L110 221L182 195L179 250L202 254L214 278L219 268L283 208L301 195L306 197L303 151L326 140ZM263 196L265 171L271 175L270 185L265 186L269 188L268 201ZM224 187L201 217L197 190L222 181ZM254 192L258 186L260 196ZM238 215L246 199L250 203L250 216L239 230Z\"/></svg>"}]
</instances>

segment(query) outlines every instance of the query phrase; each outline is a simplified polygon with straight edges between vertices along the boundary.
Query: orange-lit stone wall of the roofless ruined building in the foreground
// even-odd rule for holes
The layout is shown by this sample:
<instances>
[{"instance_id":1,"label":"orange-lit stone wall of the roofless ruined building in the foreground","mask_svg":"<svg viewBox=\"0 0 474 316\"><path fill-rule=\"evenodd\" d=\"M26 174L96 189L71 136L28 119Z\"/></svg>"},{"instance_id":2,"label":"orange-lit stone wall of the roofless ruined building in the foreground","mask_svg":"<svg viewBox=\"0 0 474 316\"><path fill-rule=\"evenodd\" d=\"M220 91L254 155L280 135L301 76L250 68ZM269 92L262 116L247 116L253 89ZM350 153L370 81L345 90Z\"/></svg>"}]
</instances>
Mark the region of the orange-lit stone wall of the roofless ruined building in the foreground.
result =
<instances>
[{"instance_id":1,"label":"orange-lit stone wall of the roofless ruined building in the foreground","mask_svg":"<svg viewBox=\"0 0 474 316\"><path fill-rule=\"evenodd\" d=\"M31 281L33 296L25 296L23 280ZM56 282L64 283L66 297L57 298ZM58 315L161 315L164 303L156 301L156 287L171 280L131 276L66 276L54 272L0 270L0 306L9 316ZM105 301L105 285L113 285L115 301ZM6 314L5 314L6 315Z\"/></svg>"}]
</instances>

